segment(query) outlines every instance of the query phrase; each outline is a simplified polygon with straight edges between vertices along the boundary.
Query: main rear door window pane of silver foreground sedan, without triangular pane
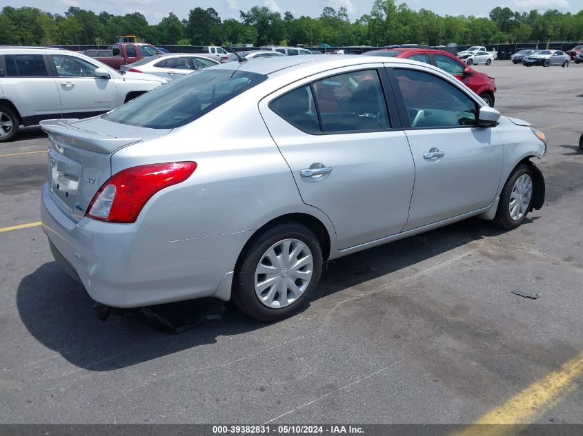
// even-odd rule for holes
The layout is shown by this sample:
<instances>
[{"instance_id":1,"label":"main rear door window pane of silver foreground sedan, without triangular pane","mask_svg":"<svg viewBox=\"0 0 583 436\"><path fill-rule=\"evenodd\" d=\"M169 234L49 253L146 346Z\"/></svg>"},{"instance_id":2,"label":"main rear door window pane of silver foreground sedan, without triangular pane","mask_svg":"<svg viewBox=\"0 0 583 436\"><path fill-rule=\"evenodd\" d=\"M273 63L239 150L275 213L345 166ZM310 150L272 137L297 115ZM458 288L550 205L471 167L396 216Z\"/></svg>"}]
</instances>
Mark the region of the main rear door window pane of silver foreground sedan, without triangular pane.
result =
<instances>
[{"instance_id":1,"label":"main rear door window pane of silver foreground sedan, without triangular pane","mask_svg":"<svg viewBox=\"0 0 583 436\"><path fill-rule=\"evenodd\" d=\"M339 74L313 84L324 132L387 129L388 111L377 70Z\"/></svg>"}]
</instances>

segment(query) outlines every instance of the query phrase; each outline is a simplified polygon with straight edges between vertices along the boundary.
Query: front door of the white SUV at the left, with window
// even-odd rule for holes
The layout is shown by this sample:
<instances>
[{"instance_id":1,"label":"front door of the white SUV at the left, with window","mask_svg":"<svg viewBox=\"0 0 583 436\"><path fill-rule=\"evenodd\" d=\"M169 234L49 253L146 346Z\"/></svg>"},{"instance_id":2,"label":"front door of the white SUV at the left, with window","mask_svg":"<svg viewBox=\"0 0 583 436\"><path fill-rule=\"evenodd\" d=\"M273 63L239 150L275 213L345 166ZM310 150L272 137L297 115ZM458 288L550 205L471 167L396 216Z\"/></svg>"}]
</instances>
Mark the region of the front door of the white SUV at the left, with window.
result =
<instances>
[{"instance_id":1,"label":"front door of the white SUV at the left, with window","mask_svg":"<svg viewBox=\"0 0 583 436\"><path fill-rule=\"evenodd\" d=\"M63 118L102 114L117 107L115 81L95 76L97 65L69 54L50 54Z\"/></svg>"}]
</instances>

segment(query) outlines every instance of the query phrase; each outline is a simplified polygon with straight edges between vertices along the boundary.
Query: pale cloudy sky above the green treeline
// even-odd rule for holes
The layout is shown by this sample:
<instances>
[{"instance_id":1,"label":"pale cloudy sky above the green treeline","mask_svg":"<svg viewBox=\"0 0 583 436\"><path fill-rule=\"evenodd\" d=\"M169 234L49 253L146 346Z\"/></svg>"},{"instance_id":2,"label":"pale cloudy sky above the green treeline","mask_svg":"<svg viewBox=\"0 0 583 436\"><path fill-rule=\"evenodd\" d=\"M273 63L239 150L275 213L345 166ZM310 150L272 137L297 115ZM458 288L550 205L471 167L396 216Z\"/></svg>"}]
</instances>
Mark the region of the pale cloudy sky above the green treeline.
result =
<instances>
[{"instance_id":1,"label":"pale cloudy sky above the green treeline","mask_svg":"<svg viewBox=\"0 0 583 436\"><path fill-rule=\"evenodd\" d=\"M547 10L557 9L564 12L579 12L583 10L583 0L508 0L508 1L460 1L460 0L396 0L395 3L407 3L412 9L422 8L432 10L440 15L475 15L476 17L487 17L496 6L508 6L512 10ZM0 7L12 6L32 6L46 12L63 14L69 6L77 6L81 9L88 9L99 14L106 10L111 14L127 14L131 12L141 12L150 24L157 24L166 17L169 12L174 12L180 19L188 16L188 11L197 6L201 8L215 8L219 12L221 19L239 19L239 10L249 10L252 6L268 6L271 10L281 12L287 10L292 12L294 17L308 15L319 17L322 9L326 6L335 8L345 6L351 21L368 14L373 6L373 0L197 0L186 2L184 0L54 0L47 3L46 0L0 0Z\"/></svg>"}]
</instances>

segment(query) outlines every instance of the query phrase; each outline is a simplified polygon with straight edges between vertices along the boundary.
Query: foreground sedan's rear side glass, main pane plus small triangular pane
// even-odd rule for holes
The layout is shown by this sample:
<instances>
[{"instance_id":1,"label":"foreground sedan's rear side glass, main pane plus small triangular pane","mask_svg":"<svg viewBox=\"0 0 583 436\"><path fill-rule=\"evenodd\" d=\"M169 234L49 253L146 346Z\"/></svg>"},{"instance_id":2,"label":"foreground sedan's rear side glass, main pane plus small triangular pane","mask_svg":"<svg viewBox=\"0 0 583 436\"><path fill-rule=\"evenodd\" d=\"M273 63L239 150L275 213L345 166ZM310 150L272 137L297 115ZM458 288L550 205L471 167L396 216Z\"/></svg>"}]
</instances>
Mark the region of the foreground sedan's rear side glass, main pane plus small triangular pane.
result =
<instances>
[{"instance_id":1,"label":"foreground sedan's rear side glass, main pane plus small triangular pane","mask_svg":"<svg viewBox=\"0 0 583 436\"><path fill-rule=\"evenodd\" d=\"M270 103L281 118L306 133L388 129L388 110L377 70L315 81Z\"/></svg>"}]
</instances>

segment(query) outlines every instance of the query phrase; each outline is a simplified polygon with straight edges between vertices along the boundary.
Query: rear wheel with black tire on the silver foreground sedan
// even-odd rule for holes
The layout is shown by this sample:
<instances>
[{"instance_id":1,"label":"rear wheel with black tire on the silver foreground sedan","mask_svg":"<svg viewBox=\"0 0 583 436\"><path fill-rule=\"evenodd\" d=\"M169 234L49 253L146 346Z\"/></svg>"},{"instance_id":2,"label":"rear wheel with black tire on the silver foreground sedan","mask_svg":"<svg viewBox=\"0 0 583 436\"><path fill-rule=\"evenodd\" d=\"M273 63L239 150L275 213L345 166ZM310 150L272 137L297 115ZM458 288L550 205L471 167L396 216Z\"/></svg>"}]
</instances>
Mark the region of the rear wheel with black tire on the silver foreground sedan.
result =
<instances>
[{"instance_id":1,"label":"rear wheel with black tire on the silver foreground sedan","mask_svg":"<svg viewBox=\"0 0 583 436\"><path fill-rule=\"evenodd\" d=\"M284 247L292 252L299 250L296 260L282 256ZM301 260L300 256L308 262L311 260L311 263L295 269L296 276L291 265ZM245 249L238 263L231 297L233 302L255 320L277 321L293 315L308 304L322 273L322 247L308 227L299 222L284 221L261 231ZM272 268L273 273L259 272ZM256 282L259 287L256 287ZM273 284L266 286L266 282ZM261 283L264 283L263 287ZM285 285L285 296L281 293L282 285ZM295 291L291 286L295 287Z\"/></svg>"}]
</instances>

